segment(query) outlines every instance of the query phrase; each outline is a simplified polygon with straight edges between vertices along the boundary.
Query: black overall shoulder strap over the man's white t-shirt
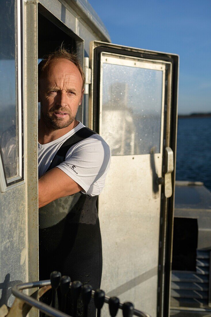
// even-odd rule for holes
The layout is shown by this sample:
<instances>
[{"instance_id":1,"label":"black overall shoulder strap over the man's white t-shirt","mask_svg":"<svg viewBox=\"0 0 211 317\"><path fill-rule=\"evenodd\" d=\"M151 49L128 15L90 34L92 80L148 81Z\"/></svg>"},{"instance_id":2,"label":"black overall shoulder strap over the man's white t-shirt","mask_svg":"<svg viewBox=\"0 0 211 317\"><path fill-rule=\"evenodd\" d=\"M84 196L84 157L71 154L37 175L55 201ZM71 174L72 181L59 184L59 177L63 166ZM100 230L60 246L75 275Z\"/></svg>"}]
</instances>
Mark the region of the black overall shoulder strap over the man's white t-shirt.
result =
<instances>
[{"instance_id":1,"label":"black overall shoulder strap over the man's white t-shirt","mask_svg":"<svg viewBox=\"0 0 211 317\"><path fill-rule=\"evenodd\" d=\"M57 153L55 154L50 166L48 167L47 171L50 171L52 168L58 166L62 162L65 161L65 157L67 154L67 151L71 148L71 146L75 145L76 143L90 137L93 134L98 134L92 130L90 130L87 127L81 128L78 130L74 135L69 137L59 148Z\"/></svg>"}]
</instances>

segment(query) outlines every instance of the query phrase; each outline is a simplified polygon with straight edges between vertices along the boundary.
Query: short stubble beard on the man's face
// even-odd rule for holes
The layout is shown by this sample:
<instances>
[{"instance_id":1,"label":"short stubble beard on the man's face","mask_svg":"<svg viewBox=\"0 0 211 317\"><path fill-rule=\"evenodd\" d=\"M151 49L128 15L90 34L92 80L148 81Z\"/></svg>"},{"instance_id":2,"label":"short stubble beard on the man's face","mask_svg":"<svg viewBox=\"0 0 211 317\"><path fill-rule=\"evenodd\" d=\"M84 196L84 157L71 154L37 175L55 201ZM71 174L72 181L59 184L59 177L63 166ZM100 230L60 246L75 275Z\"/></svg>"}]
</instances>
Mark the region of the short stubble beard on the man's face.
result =
<instances>
[{"instance_id":1,"label":"short stubble beard on the man's face","mask_svg":"<svg viewBox=\"0 0 211 317\"><path fill-rule=\"evenodd\" d=\"M54 119L53 113L55 111L68 113L69 119L67 121L66 120L64 121L64 118ZM78 108L77 108L77 111L78 111ZM41 112L41 116L45 125L51 130L59 130L59 129L67 128L71 123L73 123L76 117L76 113L73 114L70 109L67 111L66 108L53 107L48 113L44 113L43 107L42 107L42 101L40 101L40 112Z\"/></svg>"}]
</instances>

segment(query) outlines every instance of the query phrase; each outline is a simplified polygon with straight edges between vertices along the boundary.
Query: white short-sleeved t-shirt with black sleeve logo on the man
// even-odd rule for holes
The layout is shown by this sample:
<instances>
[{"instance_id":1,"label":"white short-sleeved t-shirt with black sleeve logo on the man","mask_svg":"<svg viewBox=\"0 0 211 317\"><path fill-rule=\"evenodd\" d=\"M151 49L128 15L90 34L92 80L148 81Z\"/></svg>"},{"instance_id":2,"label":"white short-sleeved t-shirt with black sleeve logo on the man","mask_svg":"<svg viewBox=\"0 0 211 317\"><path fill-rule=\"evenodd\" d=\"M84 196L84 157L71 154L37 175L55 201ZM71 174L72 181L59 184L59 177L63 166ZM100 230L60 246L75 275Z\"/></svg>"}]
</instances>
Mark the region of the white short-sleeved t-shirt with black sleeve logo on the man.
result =
<instances>
[{"instance_id":1,"label":"white short-sleeved t-shirt with black sleeve logo on the man","mask_svg":"<svg viewBox=\"0 0 211 317\"><path fill-rule=\"evenodd\" d=\"M39 177L48 170L61 145L83 127L84 125L79 122L74 129L59 139L47 144L38 142ZM65 161L57 167L79 184L83 188L83 193L97 196L105 185L105 176L109 170L110 161L109 146L99 134L93 134L72 146L67 152Z\"/></svg>"}]
</instances>

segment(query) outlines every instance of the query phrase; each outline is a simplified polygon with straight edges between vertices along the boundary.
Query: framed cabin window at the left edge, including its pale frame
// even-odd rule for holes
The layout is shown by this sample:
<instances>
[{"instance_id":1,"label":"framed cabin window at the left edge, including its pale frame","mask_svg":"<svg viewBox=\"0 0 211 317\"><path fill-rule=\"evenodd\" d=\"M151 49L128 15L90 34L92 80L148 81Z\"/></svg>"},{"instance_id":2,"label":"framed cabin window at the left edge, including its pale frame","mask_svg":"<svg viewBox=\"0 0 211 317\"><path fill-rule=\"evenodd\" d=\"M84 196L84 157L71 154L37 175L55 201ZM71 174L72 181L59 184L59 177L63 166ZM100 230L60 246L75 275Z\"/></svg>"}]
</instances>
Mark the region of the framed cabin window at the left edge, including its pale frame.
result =
<instances>
[{"instance_id":1,"label":"framed cabin window at the left edge, including its pale frame","mask_svg":"<svg viewBox=\"0 0 211 317\"><path fill-rule=\"evenodd\" d=\"M1 189L3 183L7 187L22 180L23 175L20 3L15 0L1 3Z\"/></svg>"}]
</instances>

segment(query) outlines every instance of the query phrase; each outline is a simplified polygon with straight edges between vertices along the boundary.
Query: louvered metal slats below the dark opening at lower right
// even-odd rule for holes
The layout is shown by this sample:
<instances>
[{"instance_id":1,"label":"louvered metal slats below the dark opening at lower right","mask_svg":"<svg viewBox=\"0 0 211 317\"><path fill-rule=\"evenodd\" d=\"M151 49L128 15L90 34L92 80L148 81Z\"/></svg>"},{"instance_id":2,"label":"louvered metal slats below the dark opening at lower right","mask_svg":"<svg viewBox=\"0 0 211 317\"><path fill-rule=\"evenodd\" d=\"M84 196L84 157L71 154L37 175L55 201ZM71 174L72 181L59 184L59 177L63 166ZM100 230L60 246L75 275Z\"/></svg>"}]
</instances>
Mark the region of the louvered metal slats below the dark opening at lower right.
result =
<instances>
[{"instance_id":1,"label":"louvered metal slats below the dark opening at lower right","mask_svg":"<svg viewBox=\"0 0 211 317\"><path fill-rule=\"evenodd\" d=\"M195 272L172 270L172 307L208 307L209 257L209 250L197 250Z\"/></svg>"}]
</instances>

